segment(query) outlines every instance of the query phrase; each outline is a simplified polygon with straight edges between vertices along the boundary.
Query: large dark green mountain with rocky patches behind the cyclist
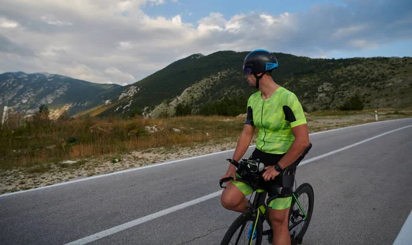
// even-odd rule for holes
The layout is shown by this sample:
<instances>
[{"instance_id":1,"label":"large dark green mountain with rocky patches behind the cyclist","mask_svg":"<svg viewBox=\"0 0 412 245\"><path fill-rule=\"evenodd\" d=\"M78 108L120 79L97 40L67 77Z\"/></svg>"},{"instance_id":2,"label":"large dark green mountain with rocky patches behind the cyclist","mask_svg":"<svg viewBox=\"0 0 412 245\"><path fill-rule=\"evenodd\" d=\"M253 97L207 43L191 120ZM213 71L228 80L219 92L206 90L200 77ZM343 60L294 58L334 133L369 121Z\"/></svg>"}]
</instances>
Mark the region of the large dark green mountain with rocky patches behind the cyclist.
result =
<instances>
[{"instance_id":1,"label":"large dark green mountain with rocky patches behind the cyclist","mask_svg":"<svg viewBox=\"0 0 412 245\"><path fill-rule=\"evenodd\" d=\"M179 105L190 105L196 114L225 97L237 105L233 114L245 111L247 98L256 91L242 75L247 54L222 51L183 58L123 87L122 96L111 99L117 102L115 105L99 107L93 116L173 116ZM339 109L355 94L365 108L412 106L411 57L325 59L275 55L279 68L273 72L274 81L295 92L308 111Z\"/></svg>"}]
</instances>

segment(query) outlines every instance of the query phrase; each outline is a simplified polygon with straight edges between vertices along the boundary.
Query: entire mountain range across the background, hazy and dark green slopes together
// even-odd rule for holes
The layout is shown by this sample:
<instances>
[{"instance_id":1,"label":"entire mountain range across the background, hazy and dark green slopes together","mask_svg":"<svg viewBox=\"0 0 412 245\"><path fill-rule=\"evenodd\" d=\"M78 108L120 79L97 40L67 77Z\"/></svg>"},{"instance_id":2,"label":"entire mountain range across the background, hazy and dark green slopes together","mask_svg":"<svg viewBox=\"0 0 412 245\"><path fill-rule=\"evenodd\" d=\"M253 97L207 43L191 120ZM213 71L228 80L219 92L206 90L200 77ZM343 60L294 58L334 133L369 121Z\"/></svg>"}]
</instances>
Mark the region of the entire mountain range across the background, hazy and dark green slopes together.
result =
<instances>
[{"instance_id":1,"label":"entire mountain range across the background, hazy and dark green slopes together","mask_svg":"<svg viewBox=\"0 0 412 245\"><path fill-rule=\"evenodd\" d=\"M127 86L88 83L50 74L0 75L0 105L33 114L39 105L69 115L165 117L244 113L256 91L242 74L249 52L192 54ZM354 95L364 108L412 107L412 58L308 58L275 53L273 80L297 94L307 111L339 109ZM75 115L76 114L76 115Z\"/></svg>"}]
</instances>

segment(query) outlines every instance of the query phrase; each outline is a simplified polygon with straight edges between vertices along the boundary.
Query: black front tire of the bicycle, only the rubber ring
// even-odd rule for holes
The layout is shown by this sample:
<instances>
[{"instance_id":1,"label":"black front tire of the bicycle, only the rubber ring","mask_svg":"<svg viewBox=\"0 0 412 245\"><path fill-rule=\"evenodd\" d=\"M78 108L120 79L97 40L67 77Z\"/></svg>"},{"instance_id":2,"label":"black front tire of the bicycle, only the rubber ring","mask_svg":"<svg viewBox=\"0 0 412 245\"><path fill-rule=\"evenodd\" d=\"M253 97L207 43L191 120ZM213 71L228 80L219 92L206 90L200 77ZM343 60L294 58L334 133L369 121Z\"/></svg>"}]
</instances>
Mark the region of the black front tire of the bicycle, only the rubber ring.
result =
<instances>
[{"instance_id":1,"label":"black front tire of the bicycle, only the rubber ring","mask_svg":"<svg viewBox=\"0 0 412 245\"><path fill-rule=\"evenodd\" d=\"M253 211L246 211L236 218L236 220L231 224L231 226L227 230L225 236L222 239L222 242L220 242L220 245L249 244L250 240L249 238L247 238L247 234L249 231L248 222L251 222L251 224L255 222L255 213L253 213ZM243 226L243 230L241 230L240 234L238 235L242 235L241 234L242 232L246 234L246 242L245 242L245 239L242 239L242 241L245 243L238 243L238 242L241 242L239 240L240 237L238 236L235 237L235 235L236 235L236 231L238 231L239 228L242 229L242 226ZM234 239L234 242L231 242L233 239ZM238 242L236 242L236 240L238 240ZM261 217L258 219L258 224L256 226L256 239L254 241L255 242L254 243L252 242L252 244L255 244L255 245L262 244L262 218Z\"/></svg>"}]
</instances>

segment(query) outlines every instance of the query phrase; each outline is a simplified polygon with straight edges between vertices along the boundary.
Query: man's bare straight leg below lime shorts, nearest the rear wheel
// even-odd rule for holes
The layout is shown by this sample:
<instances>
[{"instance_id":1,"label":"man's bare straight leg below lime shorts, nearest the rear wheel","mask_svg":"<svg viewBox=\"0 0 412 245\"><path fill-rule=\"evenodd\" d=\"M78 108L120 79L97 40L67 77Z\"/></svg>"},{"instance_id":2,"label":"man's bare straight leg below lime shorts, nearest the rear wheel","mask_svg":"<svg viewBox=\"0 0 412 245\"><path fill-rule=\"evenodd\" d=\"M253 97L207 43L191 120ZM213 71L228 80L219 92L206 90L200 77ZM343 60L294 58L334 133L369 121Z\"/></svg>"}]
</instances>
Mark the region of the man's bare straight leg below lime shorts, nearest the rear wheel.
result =
<instances>
[{"instance_id":1,"label":"man's bare straight leg below lime shorts, nearest the rear wheel","mask_svg":"<svg viewBox=\"0 0 412 245\"><path fill-rule=\"evenodd\" d=\"M290 245L288 228L289 208L269 209L269 217L273 228L273 245Z\"/></svg>"}]
</instances>

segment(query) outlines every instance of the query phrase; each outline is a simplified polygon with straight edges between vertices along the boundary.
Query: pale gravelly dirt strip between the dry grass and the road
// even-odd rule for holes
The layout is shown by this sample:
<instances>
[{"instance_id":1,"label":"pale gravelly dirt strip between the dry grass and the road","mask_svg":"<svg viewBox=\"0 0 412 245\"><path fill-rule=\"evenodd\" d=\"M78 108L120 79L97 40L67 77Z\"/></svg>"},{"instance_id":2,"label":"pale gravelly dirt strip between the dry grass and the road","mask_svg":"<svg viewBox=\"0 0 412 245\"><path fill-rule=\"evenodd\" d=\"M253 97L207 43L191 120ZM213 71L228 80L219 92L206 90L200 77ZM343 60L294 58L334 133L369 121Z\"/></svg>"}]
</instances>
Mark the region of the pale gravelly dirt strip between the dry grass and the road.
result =
<instances>
[{"instance_id":1,"label":"pale gravelly dirt strip between the dry grass and the road","mask_svg":"<svg viewBox=\"0 0 412 245\"><path fill-rule=\"evenodd\" d=\"M411 117L408 115L381 115L379 120ZM324 131L366 122L374 122L373 114L355 114L339 116L307 116L310 133ZM236 147L237 138L225 140L210 140L194 144L190 147L175 147L171 149L156 148L144 151L133 151L123 156L120 162L112 162L113 156L89 158L77 161L65 161L58 164L45 164L29 169L13 169L0 172L0 194L44 187L59 182L77 180L93 175L112 173L124 169L142 167L148 164L168 162L171 160L201 156L207 153L225 151ZM252 142L254 144L254 142Z\"/></svg>"}]
</instances>

